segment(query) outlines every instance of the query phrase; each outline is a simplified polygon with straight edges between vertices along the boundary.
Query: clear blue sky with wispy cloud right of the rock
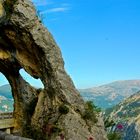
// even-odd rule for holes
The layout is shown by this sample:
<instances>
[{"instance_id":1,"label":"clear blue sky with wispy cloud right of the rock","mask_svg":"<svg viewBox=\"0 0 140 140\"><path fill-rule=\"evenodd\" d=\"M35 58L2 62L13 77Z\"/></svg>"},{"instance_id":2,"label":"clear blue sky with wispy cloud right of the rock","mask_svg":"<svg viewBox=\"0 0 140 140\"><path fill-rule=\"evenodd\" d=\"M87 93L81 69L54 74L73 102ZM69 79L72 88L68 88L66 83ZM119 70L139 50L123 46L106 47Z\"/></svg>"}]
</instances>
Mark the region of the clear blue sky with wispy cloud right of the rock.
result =
<instances>
[{"instance_id":1,"label":"clear blue sky with wispy cloud right of the rock","mask_svg":"<svg viewBox=\"0 0 140 140\"><path fill-rule=\"evenodd\" d=\"M140 79L139 0L33 1L77 88Z\"/></svg>"}]
</instances>

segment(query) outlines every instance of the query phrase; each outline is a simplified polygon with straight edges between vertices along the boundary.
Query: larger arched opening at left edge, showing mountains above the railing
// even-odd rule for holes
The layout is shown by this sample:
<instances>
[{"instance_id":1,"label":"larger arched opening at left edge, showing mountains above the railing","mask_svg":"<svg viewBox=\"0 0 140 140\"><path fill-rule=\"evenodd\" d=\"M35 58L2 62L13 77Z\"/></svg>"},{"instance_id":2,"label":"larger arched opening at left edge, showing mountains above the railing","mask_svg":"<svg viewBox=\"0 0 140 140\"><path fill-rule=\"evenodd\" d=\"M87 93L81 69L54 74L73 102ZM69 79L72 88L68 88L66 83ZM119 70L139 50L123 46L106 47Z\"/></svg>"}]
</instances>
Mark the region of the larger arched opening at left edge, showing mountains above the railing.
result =
<instances>
[{"instance_id":1,"label":"larger arched opening at left edge, showing mountains above the railing","mask_svg":"<svg viewBox=\"0 0 140 140\"><path fill-rule=\"evenodd\" d=\"M11 86L6 77L0 73L0 112L13 112Z\"/></svg>"}]
</instances>

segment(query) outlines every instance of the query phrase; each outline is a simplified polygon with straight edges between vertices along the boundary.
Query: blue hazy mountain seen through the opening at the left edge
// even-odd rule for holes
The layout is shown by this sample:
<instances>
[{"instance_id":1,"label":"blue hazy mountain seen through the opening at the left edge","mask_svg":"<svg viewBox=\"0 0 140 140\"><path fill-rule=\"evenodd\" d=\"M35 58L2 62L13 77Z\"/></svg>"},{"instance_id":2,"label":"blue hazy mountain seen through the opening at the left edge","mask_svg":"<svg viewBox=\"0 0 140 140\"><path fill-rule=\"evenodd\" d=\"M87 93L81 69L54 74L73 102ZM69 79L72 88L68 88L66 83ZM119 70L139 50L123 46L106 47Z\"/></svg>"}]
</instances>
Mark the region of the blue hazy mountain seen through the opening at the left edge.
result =
<instances>
[{"instance_id":1,"label":"blue hazy mountain seen through the opening at the left edge","mask_svg":"<svg viewBox=\"0 0 140 140\"><path fill-rule=\"evenodd\" d=\"M8 84L0 86L0 96L12 99L11 86Z\"/></svg>"}]
</instances>

